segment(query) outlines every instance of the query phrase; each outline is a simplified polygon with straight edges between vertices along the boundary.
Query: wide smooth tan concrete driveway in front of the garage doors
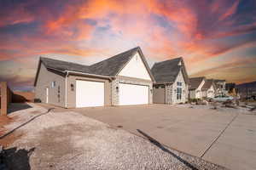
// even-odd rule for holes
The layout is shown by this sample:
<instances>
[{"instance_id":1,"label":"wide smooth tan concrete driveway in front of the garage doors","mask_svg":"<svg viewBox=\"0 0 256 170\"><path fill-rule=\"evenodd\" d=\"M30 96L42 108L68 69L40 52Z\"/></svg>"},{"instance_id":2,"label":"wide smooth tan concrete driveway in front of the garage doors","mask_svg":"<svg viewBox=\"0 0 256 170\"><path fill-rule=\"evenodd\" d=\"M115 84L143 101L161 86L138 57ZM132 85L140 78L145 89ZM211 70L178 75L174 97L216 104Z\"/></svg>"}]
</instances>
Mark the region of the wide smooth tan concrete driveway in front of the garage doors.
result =
<instances>
[{"instance_id":1,"label":"wide smooth tan concrete driveway in front of the garage doors","mask_svg":"<svg viewBox=\"0 0 256 170\"><path fill-rule=\"evenodd\" d=\"M74 109L230 169L256 169L256 116L172 105Z\"/></svg>"}]
</instances>

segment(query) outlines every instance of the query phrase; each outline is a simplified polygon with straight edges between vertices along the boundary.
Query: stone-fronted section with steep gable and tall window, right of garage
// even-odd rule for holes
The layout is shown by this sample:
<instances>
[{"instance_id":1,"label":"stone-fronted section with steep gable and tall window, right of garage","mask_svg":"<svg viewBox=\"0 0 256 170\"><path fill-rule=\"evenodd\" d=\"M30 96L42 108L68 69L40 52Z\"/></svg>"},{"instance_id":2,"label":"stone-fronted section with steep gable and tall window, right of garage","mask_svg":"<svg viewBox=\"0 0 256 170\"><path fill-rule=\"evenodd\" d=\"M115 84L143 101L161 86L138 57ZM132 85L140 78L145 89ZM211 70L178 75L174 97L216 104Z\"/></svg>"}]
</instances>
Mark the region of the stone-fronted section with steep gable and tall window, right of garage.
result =
<instances>
[{"instance_id":1,"label":"stone-fronted section with steep gable and tall window, right of garage","mask_svg":"<svg viewBox=\"0 0 256 170\"><path fill-rule=\"evenodd\" d=\"M153 103L176 104L188 101L189 78L182 58L155 63Z\"/></svg>"}]
</instances>

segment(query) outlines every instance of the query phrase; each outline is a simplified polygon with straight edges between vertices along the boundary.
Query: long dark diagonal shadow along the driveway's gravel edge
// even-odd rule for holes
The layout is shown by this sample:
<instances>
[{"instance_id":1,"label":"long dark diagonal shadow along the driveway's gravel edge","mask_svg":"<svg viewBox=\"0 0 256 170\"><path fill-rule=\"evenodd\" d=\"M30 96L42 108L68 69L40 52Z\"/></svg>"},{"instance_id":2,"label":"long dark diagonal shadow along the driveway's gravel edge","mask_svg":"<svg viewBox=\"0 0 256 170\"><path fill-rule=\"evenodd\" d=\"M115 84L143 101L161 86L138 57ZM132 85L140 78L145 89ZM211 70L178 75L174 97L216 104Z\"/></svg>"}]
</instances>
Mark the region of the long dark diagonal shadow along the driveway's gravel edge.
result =
<instances>
[{"instance_id":1,"label":"long dark diagonal shadow along the driveway's gravel edge","mask_svg":"<svg viewBox=\"0 0 256 170\"><path fill-rule=\"evenodd\" d=\"M161 150L165 151L166 153L172 155L173 157L175 157L178 161L181 161L185 166L193 169L193 170L198 170L198 168L194 167L192 164L190 164L188 161L183 160L183 158L181 158L180 156L177 156L176 154L174 154L171 150L167 150L162 144L160 144L160 142L158 142L156 139L148 136L147 133L143 133L143 131L141 131L140 129L137 129L138 133L143 134L144 137L146 137L152 144L158 146Z\"/></svg>"}]
</instances>

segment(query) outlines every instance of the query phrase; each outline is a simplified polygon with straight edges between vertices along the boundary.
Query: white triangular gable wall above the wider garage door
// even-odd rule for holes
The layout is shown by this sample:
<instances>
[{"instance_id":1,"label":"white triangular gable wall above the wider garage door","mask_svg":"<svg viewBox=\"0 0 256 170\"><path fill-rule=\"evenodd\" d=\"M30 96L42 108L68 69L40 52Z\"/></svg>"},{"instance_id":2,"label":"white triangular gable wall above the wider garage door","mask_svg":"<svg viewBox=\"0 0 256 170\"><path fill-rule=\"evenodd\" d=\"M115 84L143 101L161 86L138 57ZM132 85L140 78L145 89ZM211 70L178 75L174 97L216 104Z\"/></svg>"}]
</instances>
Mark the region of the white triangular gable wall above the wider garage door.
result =
<instances>
[{"instance_id":1,"label":"white triangular gable wall above the wider garage door","mask_svg":"<svg viewBox=\"0 0 256 170\"><path fill-rule=\"evenodd\" d=\"M119 76L151 80L140 54L135 54L131 58L129 63L119 72Z\"/></svg>"}]
</instances>

